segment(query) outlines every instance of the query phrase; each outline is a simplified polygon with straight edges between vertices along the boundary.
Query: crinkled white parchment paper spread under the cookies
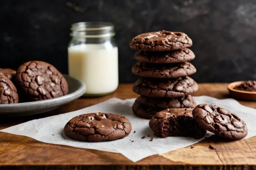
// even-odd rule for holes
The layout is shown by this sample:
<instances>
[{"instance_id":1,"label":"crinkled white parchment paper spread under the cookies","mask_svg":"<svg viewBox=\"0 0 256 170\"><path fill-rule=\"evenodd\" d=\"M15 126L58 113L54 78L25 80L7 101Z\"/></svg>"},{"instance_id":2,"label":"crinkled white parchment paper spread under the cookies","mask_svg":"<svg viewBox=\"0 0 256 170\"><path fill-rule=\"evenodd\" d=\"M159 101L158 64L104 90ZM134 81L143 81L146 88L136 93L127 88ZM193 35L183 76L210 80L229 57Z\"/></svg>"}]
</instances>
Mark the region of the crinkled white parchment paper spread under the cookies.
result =
<instances>
[{"instance_id":1,"label":"crinkled white parchment paper spread under the cookies","mask_svg":"<svg viewBox=\"0 0 256 170\"><path fill-rule=\"evenodd\" d=\"M219 100L208 96L194 97L194 99L197 104L215 104L230 110L246 122L249 131L246 138L256 135L256 128L254 127L256 122L255 109L240 105L233 99ZM167 137L164 139L157 137L148 126L149 120L138 118L132 113L131 107L134 101L135 99L120 100L112 98L103 103L78 111L32 120L0 131L29 136L46 143L117 152L123 154L133 162L150 155L163 154L172 150L187 147L202 140L204 137L209 137L213 134L207 132L201 139L194 139L191 137ZM105 142L81 142L65 136L63 128L71 118L77 115L93 112L114 113L125 116L132 124L132 132L123 139ZM134 130L136 133L133 133ZM141 139L143 135L146 137ZM147 135L150 135L150 137L147 137ZM151 137L154 138L154 141L149 141ZM131 142L130 139L134 140L134 142Z\"/></svg>"}]
</instances>

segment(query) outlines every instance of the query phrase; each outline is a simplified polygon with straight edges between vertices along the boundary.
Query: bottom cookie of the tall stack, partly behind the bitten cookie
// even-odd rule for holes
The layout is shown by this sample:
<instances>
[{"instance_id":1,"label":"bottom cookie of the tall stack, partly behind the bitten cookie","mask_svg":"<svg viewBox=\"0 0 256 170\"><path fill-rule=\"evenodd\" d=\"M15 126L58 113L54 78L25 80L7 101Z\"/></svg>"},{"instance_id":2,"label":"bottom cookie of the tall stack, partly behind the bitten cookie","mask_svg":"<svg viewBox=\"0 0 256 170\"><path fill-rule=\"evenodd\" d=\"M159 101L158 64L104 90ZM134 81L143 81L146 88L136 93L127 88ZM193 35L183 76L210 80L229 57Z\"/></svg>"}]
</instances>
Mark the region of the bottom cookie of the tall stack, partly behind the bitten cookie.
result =
<instances>
[{"instance_id":1,"label":"bottom cookie of the tall stack, partly behind the bitten cookie","mask_svg":"<svg viewBox=\"0 0 256 170\"><path fill-rule=\"evenodd\" d=\"M137 101L132 105L132 111L135 115L143 119L151 119L157 112L163 110L162 108L154 108L143 106L139 104Z\"/></svg>"}]
</instances>

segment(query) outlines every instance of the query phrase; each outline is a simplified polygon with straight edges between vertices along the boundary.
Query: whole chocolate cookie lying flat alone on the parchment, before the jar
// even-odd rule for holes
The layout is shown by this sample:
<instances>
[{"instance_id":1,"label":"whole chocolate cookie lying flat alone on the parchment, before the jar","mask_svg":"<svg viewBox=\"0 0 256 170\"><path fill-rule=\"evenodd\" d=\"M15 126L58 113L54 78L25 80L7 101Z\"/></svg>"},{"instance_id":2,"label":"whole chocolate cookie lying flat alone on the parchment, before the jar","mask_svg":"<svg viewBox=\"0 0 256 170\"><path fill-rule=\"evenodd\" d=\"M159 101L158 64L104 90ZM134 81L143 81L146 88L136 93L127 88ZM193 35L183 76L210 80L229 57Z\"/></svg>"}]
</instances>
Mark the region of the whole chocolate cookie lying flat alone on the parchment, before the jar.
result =
<instances>
[{"instance_id":1,"label":"whole chocolate cookie lying flat alone on the parchment, before the jar","mask_svg":"<svg viewBox=\"0 0 256 170\"><path fill-rule=\"evenodd\" d=\"M65 134L76 140L100 142L129 135L132 125L123 116L111 113L89 113L72 118L64 127Z\"/></svg>"}]
</instances>

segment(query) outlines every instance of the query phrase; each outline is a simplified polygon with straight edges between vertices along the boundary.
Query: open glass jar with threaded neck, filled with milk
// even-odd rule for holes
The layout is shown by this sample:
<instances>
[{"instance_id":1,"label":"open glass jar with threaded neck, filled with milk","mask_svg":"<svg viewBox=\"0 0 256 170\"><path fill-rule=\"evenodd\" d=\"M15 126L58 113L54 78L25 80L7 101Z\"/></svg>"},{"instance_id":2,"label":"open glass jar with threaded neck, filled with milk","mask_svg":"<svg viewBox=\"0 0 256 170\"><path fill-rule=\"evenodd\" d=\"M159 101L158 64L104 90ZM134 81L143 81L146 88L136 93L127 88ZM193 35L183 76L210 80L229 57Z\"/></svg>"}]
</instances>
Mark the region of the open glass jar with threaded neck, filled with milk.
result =
<instances>
[{"instance_id":1,"label":"open glass jar with threaded neck, filled with milk","mask_svg":"<svg viewBox=\"0 0 256 170\"><path fill-rule=\"evenodd\" d=\"M114 25L80 22L71 25L69 75L85 82L84 96L104 96L118 87L118 49Z\"/></svg>"}]
</instances>

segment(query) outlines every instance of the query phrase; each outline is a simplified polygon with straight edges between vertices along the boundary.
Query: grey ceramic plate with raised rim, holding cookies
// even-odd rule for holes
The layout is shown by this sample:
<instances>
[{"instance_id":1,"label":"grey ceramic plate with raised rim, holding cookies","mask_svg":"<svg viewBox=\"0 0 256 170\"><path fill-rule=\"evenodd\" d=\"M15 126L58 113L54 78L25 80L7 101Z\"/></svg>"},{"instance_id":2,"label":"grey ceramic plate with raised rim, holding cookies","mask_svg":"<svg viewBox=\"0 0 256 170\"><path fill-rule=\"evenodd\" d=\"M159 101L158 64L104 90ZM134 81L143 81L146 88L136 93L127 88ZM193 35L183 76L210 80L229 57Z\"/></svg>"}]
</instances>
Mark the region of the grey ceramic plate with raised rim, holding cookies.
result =
<instances>
[{"instance_id":1,"label":"grey ceramic plate with raised rim, holding cookies","mask_svg":"<svg viewBox=\"0 0 256 170\"><path fill-rule=\"evenodd\" d=\"M85 93L84 82L68 75L64 75L64 77L69 86L69 93L67 95L36 102L3 104L0 105L0 116L20 117L48 112L81 97Z\"/></svg>"}]
</instances>

